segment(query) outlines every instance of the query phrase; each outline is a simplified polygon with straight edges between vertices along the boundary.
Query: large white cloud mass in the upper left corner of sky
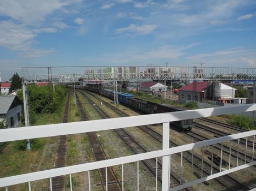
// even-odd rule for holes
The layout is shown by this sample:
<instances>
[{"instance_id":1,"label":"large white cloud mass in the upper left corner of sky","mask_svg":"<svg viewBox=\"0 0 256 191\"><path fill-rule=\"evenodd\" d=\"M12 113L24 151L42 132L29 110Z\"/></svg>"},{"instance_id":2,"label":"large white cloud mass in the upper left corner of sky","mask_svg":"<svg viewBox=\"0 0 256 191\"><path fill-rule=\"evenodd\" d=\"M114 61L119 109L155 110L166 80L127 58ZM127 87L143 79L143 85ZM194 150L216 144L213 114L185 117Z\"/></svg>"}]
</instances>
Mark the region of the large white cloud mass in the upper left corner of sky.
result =
<instances>
[{"instance_id":1,"label":"large white cloud mass in the upper left corner of sky","mask_svg":"<svg viewBox=\"0 0 256 191\"><path fill-rule=\"evenodd\" d=\"M43 22L56 10L81 0L9 0L0 1L0 16L11 19L0 21L0 46L19 51L22 57L37 57L53 52L52 49L36 49L33 47L37 33L55 33L58 29L68 28L64 22L55 21L49 27Z\"/></svg>"}]
</instances>

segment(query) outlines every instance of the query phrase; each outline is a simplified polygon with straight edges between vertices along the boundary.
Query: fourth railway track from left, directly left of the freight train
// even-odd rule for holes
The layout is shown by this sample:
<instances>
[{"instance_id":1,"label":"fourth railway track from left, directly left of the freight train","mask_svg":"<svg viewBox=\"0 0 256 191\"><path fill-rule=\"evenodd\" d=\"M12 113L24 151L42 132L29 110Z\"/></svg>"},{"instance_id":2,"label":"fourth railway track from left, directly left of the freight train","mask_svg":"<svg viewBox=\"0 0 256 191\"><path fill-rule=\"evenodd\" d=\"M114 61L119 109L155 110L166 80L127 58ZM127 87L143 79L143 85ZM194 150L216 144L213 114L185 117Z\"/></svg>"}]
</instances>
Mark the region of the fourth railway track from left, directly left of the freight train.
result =
<instances>
[{"instance_id":1,"label":"fourth railway track from left, directly left of the freight train","mask_svg":"<svg viewBox=\"0 0 256 191\"><path fill-rule=\"evenodd\" d=\"M91 95L94 95L91 92L87 92L87 93L89 93ZM105 105L107 105L109 108L111 108L113 111L117 112L121 116L123 116L123 117L128 116L127 114L125 114L124 112L122 112L122 111L118 110L117 108L113 107L109 103L106 103L104 100L100 99L98 96L94 96L94 98L98 99L100 102L103 102ZM158 134L157 132L155 132L154 130L149 128L149 126L140 126L139 128L141 130L144 130L144 132L151 135L156 140L162 142L162 135ZM170 147L179 146L179 145L175 144L172 141L170 141L169 144L170 144ZM178 153L178 154L180 155L180 153ZM193 165L198 169L202 169L202 159L195 156L195 154L193 154L193 157L194 157ZM185 160L187 160L187 162L191 163L192 152L190 152L190 151L184 152L183 153L183 158ZM215 174L215 173L219 172L219 169L217 169L213 166L213 170L212 170L211 164L204 162L203 173L206 174L206 175L211 175L211 171L213 171L213 174ZM229 190L234 190L234 191L236 191L236 190L249 190L248 187L246 187L244 184L236 181L234 178L230 177L229 175L224 175L224 176L215 178L215 180L217 180L223 186L229 188Z\"/></svg>"}]
</instances>

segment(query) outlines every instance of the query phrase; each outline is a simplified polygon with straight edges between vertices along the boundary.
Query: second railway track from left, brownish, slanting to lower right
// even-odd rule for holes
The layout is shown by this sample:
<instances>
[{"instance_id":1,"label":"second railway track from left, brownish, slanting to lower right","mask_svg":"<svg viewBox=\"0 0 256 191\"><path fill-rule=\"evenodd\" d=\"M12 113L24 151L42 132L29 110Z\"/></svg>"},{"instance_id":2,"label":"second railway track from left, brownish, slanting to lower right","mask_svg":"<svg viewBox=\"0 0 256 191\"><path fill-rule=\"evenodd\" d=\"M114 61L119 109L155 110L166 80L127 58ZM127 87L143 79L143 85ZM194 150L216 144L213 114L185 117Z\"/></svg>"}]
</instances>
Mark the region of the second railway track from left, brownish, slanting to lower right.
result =
<instances>
[{"instance_id":1,"label":"second railway track from left, brownish, slanting to lower right","mask_svg":"<svg viewBox=\"0 0 256 191\"><path fill-rule=\"evenodd\" d=\"M77 99L79 111L82 116L82 121L88 121L86 112L84 111L82 103L80 102L77 94L76 94L76 99ZM87 136L88 136L90 148L92 149L94 159L96 161L106 160L107 159L106 154L100 145L97 135L94 132L89 132L89 133L87 133ZM111 167L107 168L107 182L106 182L106 169L105 168L98 169L98 172L99 172L101 184L102 184L104 190L111 190L111 191L121 191L122 190L120 183L118 181L118 178L116 177L116 175Z\"/></svg>"}]
</instances>

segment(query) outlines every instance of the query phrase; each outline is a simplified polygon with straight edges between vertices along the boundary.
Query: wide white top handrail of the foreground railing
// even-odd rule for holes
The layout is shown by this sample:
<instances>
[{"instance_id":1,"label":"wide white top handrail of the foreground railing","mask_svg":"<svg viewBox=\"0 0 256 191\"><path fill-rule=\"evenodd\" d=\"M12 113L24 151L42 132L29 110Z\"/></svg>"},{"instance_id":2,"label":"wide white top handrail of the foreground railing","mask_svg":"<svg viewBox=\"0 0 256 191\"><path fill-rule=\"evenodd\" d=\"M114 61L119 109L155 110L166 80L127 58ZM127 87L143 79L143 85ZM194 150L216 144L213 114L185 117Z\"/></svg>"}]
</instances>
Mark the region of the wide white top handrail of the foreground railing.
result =
<instances>
[{"instance_id":1,"label":"wide white top handrail of the foreground railing","mask_svg":"<svg viewBox=\"0 0 256 191\"><path fill-rule=\"evenodd\" d=\"M150 114L94 121L48 124L43 126L32 126L25 128L1 129L0 142L96 132L100 130L110 130L134 126L143 126L148 124L166 123L179 120L188 120L191 118L209 117L223 114L236 114L240 112L254 110L256 110L256 104L246 104L241 106L236 105L221 108L167 112L163 114Z\"/></svg>"}]
</instances>

